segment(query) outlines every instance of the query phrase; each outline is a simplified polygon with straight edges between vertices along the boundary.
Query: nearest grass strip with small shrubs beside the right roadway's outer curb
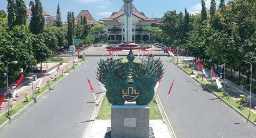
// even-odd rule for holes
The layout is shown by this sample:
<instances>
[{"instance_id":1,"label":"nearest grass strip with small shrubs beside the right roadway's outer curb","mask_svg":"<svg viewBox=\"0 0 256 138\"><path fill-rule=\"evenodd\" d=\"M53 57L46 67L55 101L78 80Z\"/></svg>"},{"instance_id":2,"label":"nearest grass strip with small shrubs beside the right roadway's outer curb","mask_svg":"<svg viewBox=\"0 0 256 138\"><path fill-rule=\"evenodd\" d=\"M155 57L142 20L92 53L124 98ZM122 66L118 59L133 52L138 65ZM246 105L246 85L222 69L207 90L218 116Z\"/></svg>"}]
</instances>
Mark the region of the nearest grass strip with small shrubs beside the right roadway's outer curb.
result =
<instances>
[{"instance_id":1,"label":"nearest grass strip with small shrubs beside the right roadway's outer curb","mask_svg":"<svg viewBox=\"0 0 256 138\"><path fill-rule=\"evenodd\" d=\"M242 112L245 116L249 116L249 109L244 108L244 110L242 111L239 107L239 103L232 99L232 98L228 98L227 96L223 97L223 92L221 90L219 90L216 86L212 86L210 84L207 84L207 81L205 81L203 79L203 81L201 81L201 77L197 78L198 81L202 82L204 85L206 85L209 89L211 89L214 93L216 93L219 97L222 97L223 100L227 101L229 104L231 104L234 108L236 108L238 111ZM250 115L250 119L253 120L254 122L256 122L256 114L254 114L253 112L251 112Z\"/></svg>"}]
</instances>

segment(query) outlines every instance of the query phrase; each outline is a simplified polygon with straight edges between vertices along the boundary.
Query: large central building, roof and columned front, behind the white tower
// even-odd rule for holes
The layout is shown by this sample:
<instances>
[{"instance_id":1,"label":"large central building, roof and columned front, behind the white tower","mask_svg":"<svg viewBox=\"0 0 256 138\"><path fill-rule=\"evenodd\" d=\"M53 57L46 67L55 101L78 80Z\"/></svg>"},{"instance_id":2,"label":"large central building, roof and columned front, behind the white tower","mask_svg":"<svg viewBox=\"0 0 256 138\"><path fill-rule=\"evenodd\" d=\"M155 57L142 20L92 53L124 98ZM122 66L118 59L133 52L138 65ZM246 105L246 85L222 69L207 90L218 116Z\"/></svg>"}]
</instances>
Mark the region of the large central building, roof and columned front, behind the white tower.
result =
<instances>
[{"instance_id":1,"label":"large central building, roof and columned front, behind the white tower","mask_svg":"<svg viewBox=\"0 0 256 138\"><path fill-rule=\"evenodd\" d=\"M106 27L108 34L108 41L121 41L125 40L125 6L123 5L119 12L113 12L109 18L100 19ZM151 26L153 23L157 23L157 19L148 18L144 13L138 12L138 10L132 5L132 40L135 41L136 35L147 35L148 40L151 41L152 34L146 31L141 31L141 28ZM118 32L113 32L112 28L116 26Z\"/></svg>"}]
</instances>

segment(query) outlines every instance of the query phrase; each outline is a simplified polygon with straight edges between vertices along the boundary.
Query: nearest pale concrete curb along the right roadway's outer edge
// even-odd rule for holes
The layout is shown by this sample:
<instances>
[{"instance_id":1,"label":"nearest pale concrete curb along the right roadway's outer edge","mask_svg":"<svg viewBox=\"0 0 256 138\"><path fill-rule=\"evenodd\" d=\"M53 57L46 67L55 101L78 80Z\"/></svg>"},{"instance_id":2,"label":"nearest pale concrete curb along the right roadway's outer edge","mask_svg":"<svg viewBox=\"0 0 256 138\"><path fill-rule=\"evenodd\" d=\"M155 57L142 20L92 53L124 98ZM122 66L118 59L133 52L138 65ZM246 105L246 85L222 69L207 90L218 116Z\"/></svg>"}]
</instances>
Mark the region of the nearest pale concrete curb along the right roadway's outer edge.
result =
<instances>
[{"instance_id":1,"label":"nearest pale concrete curb along the right roadway's outer edge","mask_svg":"<svg viewBox=\"0 0 256 138\"><path fill-rule=\"evenodd\" d=\"M200 83L200 85L202 85L207 91L213 93L213 95L215 95L216 97L218 97L219 99L221 99L221 101L223 101L225 104L227 104L230 108L232 108L233 110L235 110L237 113L239 113L241 116L243 116L246 120L248 120L250 123L252 123L254 126L256 126L256 123L251 120L250 118L248 118L247 116L245 116L242 112L240 112L239 110L237 110L235 107L233 107L231 104L229 104L227 101L225 101L223 98L221 98L220 96L218 96L215 92L213 92L211 89L209 89L206 85L204 85L202 82L198 81L195 77L192 77L194 80L196 80L198 83Z\"/></svg>"}]
</instances>

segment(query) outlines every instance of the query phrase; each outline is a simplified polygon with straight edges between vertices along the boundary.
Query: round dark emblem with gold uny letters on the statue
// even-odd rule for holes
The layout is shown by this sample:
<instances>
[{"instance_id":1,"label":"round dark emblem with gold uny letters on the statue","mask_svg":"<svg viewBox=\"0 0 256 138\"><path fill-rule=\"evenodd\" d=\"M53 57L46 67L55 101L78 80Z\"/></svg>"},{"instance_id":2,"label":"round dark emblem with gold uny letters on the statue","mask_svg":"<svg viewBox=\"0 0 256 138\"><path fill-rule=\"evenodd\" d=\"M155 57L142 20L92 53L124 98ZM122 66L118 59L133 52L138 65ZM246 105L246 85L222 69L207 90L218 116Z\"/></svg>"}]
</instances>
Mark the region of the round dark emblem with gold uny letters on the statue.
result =
<instances>
[{"instance_id":1,"label":"round dark emblem with gold uny letters on the statue","mask_svg":"<svg viewBox=\"0 0 256 138\"><path fill-rule=\"evenodd\" d=\"M125 101L133 102L139 98L141 90L135 84L127 84L121 89L121 93Z\"/></svg>"}]
</instances>

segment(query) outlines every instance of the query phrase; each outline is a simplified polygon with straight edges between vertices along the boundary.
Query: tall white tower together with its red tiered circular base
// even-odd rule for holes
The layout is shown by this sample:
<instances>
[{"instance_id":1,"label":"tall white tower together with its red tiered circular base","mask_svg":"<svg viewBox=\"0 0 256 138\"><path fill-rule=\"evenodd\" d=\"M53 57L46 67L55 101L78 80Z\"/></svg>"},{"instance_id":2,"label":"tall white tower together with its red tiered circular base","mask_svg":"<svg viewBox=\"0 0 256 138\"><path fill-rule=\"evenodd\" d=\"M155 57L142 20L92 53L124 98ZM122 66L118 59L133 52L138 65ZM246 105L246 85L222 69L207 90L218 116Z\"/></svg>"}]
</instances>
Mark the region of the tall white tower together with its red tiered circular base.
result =
<instances>
[{"instance_id":1,"label":"tall white tower together with its red tiered circular base","mask_svg":"<svg viewBox=\"0 0 256 138\"><path fill-rule=\"evenodd\" d=\"M138 44L132 42L132 2L133 0L123 0L125 7L125 39L123 43L114 47L116 51L139 51L139 50L153 50L151 46L141 47ZM111 46L105 47L103 50L111 51Z\"/></svg>"}]
</instances>

